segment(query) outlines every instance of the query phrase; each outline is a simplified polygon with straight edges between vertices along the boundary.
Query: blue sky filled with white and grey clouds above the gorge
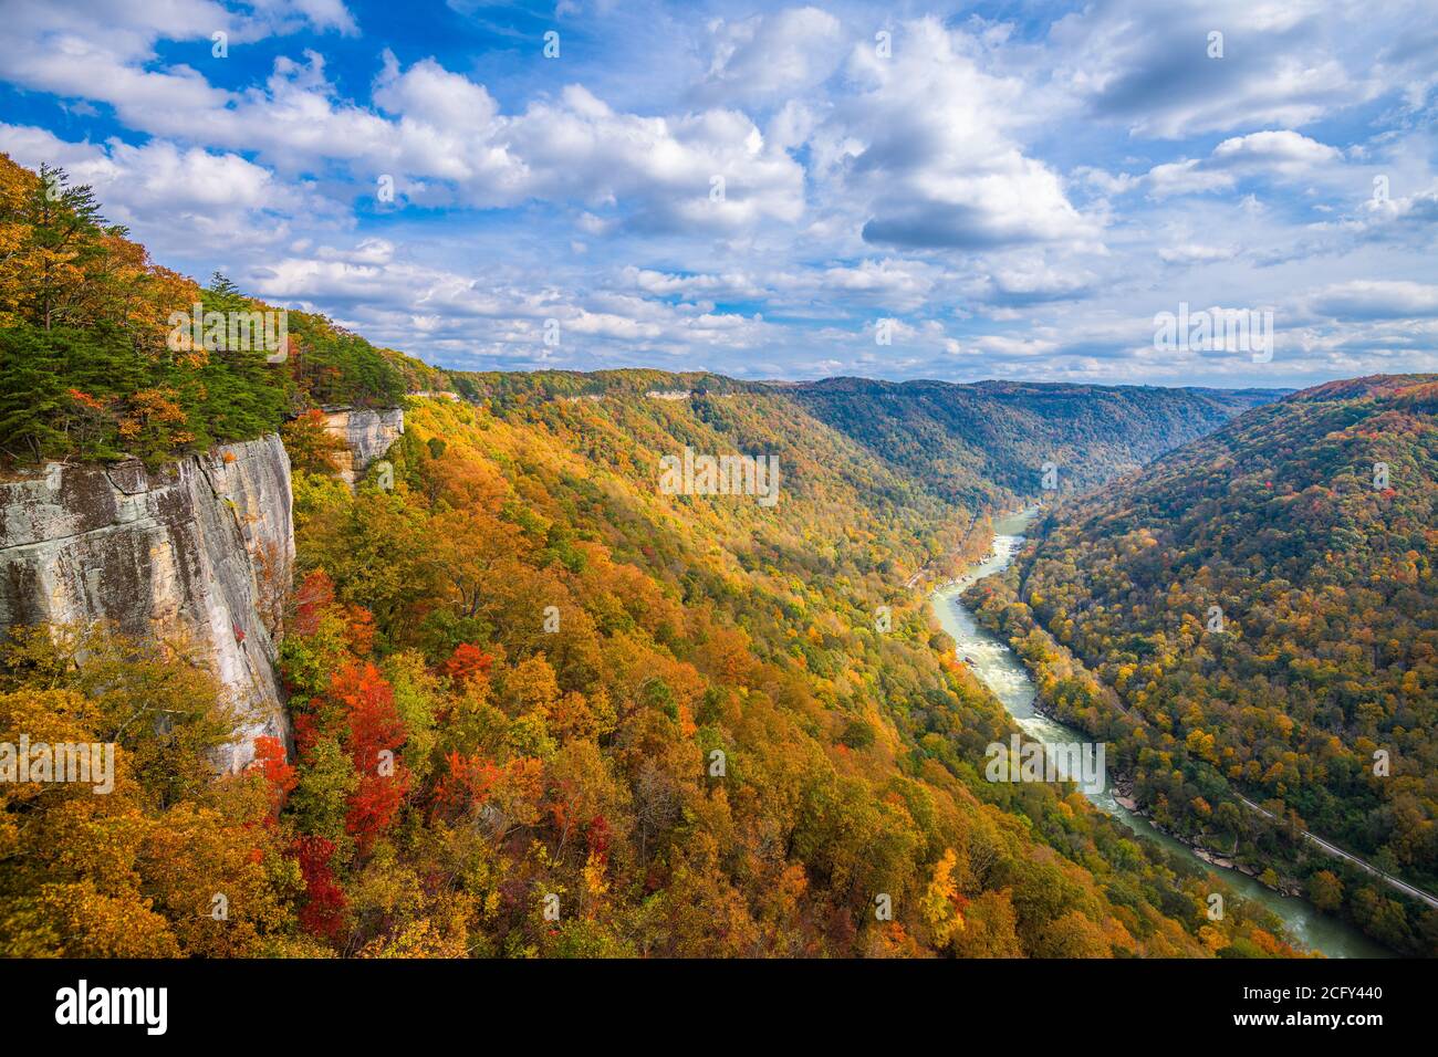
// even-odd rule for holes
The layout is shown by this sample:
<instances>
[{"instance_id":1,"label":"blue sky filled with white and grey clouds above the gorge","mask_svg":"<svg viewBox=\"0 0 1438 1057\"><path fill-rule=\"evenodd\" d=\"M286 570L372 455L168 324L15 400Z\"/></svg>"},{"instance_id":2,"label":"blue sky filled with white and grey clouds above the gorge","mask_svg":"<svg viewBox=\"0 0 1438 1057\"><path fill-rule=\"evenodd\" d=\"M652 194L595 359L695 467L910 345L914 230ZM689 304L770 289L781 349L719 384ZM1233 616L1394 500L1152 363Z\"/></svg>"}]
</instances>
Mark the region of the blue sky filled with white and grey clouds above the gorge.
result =
<instances>
[{"instance_id":1,"label":"blue sky filled with white and grey clouds above the gorge","mask_svg":"<svg viewBox=\"0 0 1438 1057\"><path fill-rule=\"evenodd\" d=\"M1434 14L0 0L0 151L444 367L1300 387L1438 371Z\"/></svg>"}]
</instances>

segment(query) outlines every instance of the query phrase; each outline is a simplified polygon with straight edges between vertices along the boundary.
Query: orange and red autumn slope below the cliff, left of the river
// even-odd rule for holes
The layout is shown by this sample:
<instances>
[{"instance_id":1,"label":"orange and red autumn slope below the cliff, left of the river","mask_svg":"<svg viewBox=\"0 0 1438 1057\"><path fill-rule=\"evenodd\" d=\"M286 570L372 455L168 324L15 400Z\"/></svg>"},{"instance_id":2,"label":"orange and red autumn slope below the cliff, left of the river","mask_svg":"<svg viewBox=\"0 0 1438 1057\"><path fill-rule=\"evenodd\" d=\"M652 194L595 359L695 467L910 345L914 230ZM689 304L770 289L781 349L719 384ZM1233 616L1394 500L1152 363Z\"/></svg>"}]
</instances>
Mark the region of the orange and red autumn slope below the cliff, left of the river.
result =
<instances>
[{"instance_id":1,"label":"orange and red autumn slope below the cliff, left of the river","mask_svg":"<svg viewBox=\"0 0 1438 1057\"><path fill-rule=\"evenodd\" d=\"M204 784L191 676L183 738L121 735L124 797L6 792L4 949L1284 953L1078 794L984 781L1008 723L894 588L915 526L853 483L887 470L787 410L423 401L393 490L301 470L296 756ZM657 493L683 443L779 452L785 500ZM4 729L98 733L154 654L114 689L22 639Z\"/></svg>"}]
</instances>

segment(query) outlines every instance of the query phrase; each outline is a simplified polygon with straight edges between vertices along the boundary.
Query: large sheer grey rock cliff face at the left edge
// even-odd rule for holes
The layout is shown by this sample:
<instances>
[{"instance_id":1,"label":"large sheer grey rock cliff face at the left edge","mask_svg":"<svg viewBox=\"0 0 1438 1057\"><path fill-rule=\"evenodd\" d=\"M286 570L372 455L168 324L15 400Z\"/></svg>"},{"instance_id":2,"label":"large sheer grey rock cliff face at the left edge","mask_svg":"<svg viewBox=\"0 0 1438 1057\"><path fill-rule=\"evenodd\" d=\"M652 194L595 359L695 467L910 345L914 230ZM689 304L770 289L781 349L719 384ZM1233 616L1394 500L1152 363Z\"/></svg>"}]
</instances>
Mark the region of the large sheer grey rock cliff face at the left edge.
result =
<instances>
[{"instance_id":1,"label":"large sheer grey rock cliff face at the left edge","mask_svg":"<svg viewBox=\"0 0 1438 1057\"><path fill-rule=\"evenodd\" d=\"M109 621L187 639L242 709L219 761L232 769L259 735L288 735L275 662L293 561L289 456L273 434L160 470L49 463L0 483L0 628Z\"/></svg>"}]
</instances>

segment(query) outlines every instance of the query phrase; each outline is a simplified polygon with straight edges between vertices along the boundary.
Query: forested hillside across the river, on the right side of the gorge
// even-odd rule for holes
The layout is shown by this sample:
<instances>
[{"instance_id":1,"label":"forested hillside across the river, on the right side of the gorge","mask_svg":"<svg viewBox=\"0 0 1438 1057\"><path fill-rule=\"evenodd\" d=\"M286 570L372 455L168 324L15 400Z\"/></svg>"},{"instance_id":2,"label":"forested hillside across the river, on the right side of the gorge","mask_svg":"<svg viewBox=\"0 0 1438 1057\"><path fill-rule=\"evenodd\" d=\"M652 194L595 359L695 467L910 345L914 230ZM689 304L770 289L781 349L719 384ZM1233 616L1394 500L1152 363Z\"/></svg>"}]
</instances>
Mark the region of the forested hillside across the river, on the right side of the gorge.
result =
<instances>
[{"instance_id":1,"label":"forested hillside across the river, on the right side of the gorge","mask_svg":"<svg viewBox=\"0 0 1438 1057\"><path fill-rule=\"evenodd\" d=\"M1438 913L1297 827L1438 892L1435 411L1434 375L1261 407L1060 508L969 595L1158 821L1429 952Z\"/></svg>"}]
</instances>

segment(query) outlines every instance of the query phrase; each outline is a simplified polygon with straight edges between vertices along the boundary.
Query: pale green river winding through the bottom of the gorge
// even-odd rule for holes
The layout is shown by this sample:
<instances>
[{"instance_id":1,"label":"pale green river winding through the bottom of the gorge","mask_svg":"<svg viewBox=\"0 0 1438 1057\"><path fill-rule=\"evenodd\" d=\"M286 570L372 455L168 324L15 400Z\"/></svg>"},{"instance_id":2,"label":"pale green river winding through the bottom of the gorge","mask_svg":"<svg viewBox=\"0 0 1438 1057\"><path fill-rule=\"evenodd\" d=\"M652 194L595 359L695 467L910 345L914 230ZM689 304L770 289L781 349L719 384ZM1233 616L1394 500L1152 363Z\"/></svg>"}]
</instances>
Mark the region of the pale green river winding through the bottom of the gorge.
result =
<instances>
[{"instance_id":1,"label":"pale green river winding through the bottom of the gorge","mask_svg":"<svg viewBox=\"0 0 1438 1057\"><path fill-rule=\"evenodd\" d=\"M959 659L968 657L974 674L1008 709L1008 713L1030 738L1041 742L1083 742L1083 733L1074 728L1058 723L1034 709L1037 690L1028 677L1024 663L1009 650L1008 644L997 636L979 627L974 614L959 601L959 592L976 580L1002 572L1014 561L1024 545L1024 531L1032 521L1035 511L1008 515L994 522L994 552L982 562L969 567L958 581L940 587L929 595L933 613L943 626L943 630L958 643ZM1081 788L1081 787L1080 787ZM1365 936L1357 929L1319 913L1319 910L1303 899L1281 896L1264 887L1248 874L1238 870L1205 863L1194 854L1194 850L1182 841L1173 840L1168 834L1153 828L1142 815L1136 815L1119 804L1104 782L1102 792L1084 792L1089 800L1102 811L1113 815L1126 827L1145 840L1156 841L1171 851L1186 856L1202 866L1215 877L1221 877L1228 887L1238 894L1263 903L1283 919L1288 935L1299 943L1320 951L1329 958L1392 958L1392 952Z\"/></svg>"}]
</instances>

